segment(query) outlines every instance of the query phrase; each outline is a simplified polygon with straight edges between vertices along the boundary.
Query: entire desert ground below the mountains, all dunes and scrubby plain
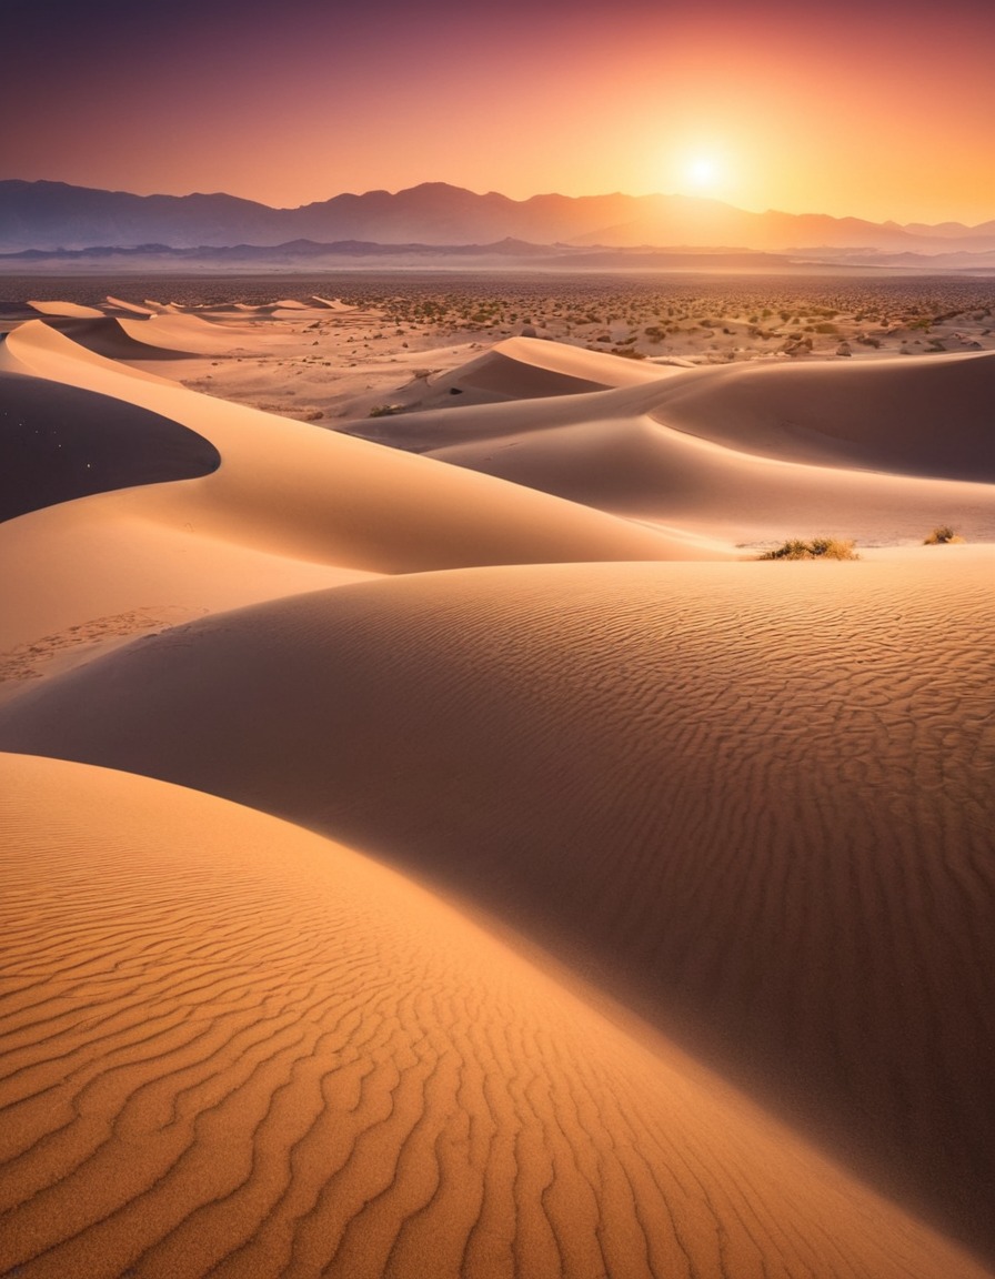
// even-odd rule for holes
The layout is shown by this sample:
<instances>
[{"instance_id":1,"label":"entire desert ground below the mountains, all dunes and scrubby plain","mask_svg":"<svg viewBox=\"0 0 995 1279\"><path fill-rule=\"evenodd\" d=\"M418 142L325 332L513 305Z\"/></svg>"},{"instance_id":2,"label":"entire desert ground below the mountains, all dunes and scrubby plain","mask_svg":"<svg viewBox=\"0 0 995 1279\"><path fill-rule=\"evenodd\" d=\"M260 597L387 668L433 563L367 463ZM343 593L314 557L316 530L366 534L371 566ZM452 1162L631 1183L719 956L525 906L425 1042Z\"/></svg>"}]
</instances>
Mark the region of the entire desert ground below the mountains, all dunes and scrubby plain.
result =
<instances>
[{"instance_id":1,"label":"entire desert ground below the mountains, all dunes and scrubby plain","mask_svg":"<svg viewBox=\"0 0 995 1279\"><path fill-rule=\"evenodd\" d=\"M17 289L0 1275L992 1274L995 286Z\"/></svg>"}]
</instances>

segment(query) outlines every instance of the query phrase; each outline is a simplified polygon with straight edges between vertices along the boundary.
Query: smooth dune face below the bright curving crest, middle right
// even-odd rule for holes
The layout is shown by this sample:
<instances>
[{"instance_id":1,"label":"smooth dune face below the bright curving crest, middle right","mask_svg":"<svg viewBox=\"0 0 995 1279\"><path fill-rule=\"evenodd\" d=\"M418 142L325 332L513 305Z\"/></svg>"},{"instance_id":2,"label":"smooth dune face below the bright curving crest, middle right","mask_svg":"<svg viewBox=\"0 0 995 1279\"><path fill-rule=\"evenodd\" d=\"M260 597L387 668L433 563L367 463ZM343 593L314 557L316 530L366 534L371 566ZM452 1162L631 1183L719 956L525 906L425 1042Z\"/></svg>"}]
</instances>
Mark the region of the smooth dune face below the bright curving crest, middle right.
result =
<instances>
[{"instance_id":1,"label":"smooth dune face below the bright curving crest, middle right","mask_svg":"<svg viewBox=\"0 0 995 1279\"><path fill-rule=\"evenodd\" d=\"M737 453L648 416L545 430L535 421L522 426L523 417L509 413L499 439L450 444L427 457L618 515L666 522L716 546L820 535L894 545L921 541L948 519L971 541L995 541L992 485Z\"/></svg>"}]
</instances>

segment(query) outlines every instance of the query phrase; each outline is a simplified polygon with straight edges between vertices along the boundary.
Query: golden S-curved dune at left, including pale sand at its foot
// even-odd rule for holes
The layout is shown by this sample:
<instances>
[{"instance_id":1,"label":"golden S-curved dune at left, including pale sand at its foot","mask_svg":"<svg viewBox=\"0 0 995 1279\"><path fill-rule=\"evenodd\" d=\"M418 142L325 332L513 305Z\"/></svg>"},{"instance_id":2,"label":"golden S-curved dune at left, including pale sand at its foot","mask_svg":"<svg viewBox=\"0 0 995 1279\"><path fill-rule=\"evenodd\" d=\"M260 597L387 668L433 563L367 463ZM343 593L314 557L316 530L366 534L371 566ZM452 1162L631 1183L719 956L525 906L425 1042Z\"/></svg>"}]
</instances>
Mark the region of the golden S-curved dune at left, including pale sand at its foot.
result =
<instances>
[{"instance_id":1,"label":"golden S-curved dune at left, including pale sand at its foot","mask_svg":"<svg viewBox=\"0 0 995 1279\"><path fill-rule=\"evenodd\" d=\"M0 530L6 601L0 696L10 696L24 678L75 664L150 627L371 573L715 554L692 537L664 537L499 481L207 399L113 363L43 324L14 333L0 348L0 363L29 373L31 385L47 379L51 398L41 396L37 414L59 412L67 396L95 395L87 404L100 409L92 425L105 443L129 432L137 441L155 413L155 421L196 432L221 457L212 475L150 486L145 481L164 478L169 463L157 450L139 448L145 471L125 475L121 454L115 473L141 487L63 500ZM86 457L79 454L84 471L96 446L91 436ZM106 449L100 457L110 466ZM78 475L70 480L74 487L59 498L84 491ZM23 509L26 494L14 487L12 501ZM51 489L49 495L56 496ZM32 500L43 496L38 491Z\"/></svg>"}]
</instances>

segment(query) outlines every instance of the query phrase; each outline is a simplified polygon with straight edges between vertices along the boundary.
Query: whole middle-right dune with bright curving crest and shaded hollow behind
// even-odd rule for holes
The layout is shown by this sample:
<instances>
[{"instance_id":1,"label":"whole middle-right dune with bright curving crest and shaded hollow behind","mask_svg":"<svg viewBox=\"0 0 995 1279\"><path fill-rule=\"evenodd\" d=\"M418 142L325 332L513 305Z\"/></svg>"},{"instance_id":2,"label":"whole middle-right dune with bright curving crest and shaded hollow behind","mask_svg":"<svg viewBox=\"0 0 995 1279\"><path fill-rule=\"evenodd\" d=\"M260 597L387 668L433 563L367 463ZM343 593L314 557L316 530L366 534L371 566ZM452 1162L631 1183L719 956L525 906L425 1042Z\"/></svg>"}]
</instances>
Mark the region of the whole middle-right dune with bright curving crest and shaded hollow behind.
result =
<instances>
[{"instance_id":1,"label":"whole middle-right dune with bright curving crest and shaded hollow behind","mask_svg":"<svg viewBox=\"0 0 995 1279\"><path fill-rule=\"evenodd\" d=\"M588 359L632 363L587 352L572 359L577 370ZM458 382L460 373L451 376ZM665 379L599 394L411 413L348 431L726 544L822 533L921 541L954 518L969 540L995 541L995 490L966 481L971 458L978 459L976 480L995 468L990 396L981 394L992 376L991 356L670 370ZM519 381L506 377L509 398ZM755 395L739 412L742 384ZM770 411L767 388L776 393ZM944 418L941 405L957 407ZM960 481L944 478L954 472Z\"/></svg>"}]
</instances>

